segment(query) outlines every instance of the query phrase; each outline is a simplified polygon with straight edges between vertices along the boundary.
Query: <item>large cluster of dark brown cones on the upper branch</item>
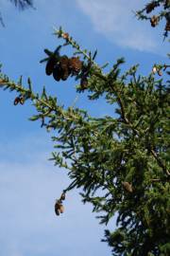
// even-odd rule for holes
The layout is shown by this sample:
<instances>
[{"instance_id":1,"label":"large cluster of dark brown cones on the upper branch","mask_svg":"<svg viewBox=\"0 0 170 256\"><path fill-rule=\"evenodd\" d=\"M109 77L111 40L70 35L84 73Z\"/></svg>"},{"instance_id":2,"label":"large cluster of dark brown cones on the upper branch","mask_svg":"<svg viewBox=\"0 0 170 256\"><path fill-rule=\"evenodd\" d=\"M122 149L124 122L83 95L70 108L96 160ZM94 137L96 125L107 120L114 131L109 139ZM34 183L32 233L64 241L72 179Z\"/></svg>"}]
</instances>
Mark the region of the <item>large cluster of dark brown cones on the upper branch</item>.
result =
<instances>
[{"instance_id":1,"label":"large cluster of dark brown cones on the upper branch","mask_svg":"<svg viewBox=\"0 0 170 256\"><path fill-rule=\"evenodd\" d=\"M68 58L66 55L57 58L52 55L47 61L45 72L47 76L53 74L56 81L65 81L70 75L76 76L82 68L82 62L77 57Z\"/></svg>"}]
</instances>

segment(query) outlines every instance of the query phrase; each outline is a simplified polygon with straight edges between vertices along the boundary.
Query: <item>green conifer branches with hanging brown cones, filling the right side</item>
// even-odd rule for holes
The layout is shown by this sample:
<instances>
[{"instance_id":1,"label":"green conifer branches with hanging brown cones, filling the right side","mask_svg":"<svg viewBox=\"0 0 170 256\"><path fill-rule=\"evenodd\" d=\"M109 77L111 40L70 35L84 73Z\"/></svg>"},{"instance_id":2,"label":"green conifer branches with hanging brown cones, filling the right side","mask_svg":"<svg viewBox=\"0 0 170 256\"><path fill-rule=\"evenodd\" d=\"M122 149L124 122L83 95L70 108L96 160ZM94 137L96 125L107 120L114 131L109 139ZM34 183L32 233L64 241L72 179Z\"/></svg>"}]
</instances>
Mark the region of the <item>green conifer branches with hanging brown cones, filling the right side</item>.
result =
<instances>
[{"instance_id":1,"label":"green conifer branches with hanging brown cones, filling the right side","mask_svg":"<svg viewBox=\"0 0 170 256\"><path fill-rule=\"evenodd\" d=\"M136 14L151 22L147 14L158 7L167 36L170 1L152 1ZM112 255L170 255L169 65L155 64L144 77L138 65L122 73L125 60L119 59L104 73L106 65L94 62L96 51L81 49L61 27L54 33L64 43L54 52L44 50L46 74L57 82L75 77L77 93L116 103L114 117L93 118L84 109L60 106L45 87L41 95L35 93L30 79L24 86L22 78L12 82L1 73L0 86L18 92L14 105L31 101L37 110L31 120L56 132L51 160L72 180L56 202L57 215L64 211L66 193L81 188L82 201L93 204L100 224L107 225L117 213L117 229L106 229L102 240ZM61 55L65 46L73 47L73 56Z\"/></svg>"}]
</instances>

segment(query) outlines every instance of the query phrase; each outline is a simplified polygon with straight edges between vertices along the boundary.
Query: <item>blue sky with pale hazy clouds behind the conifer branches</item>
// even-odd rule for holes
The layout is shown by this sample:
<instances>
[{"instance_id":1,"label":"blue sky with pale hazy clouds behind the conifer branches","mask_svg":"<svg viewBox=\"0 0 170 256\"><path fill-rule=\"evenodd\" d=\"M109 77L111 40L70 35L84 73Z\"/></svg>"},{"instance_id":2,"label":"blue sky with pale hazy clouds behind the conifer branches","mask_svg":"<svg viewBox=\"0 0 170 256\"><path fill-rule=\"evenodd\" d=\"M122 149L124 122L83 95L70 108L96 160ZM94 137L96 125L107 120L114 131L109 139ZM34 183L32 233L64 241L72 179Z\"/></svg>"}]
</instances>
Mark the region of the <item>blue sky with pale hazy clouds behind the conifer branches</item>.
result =
<instances>
[{"instance_id":1,"label":"blue sky with pale hazy clouds behind the conifer branches","mask_svg":"<svg viewBox=\"0 0 170 256\"><path fill-rule=\"evenodd\" d=\"M128 5L127 5L128 2ZM98 64L125 57L124 68L140 64L147 75L154 63L167 63L168 43L162 42L162 27L134 18L132 9L147 1L136 0L35 0L34 9L18 11L1 0L6 27L0 27L0 62L3 71L17 80L31 77L34 90L56 95L68 106L76 98L73 79L54 82L44 74L43 48L55 49L59 40L53 27L62 26L85 48L98 49ZM50 5L49 5L50 4ZM71 48L66 49L71 56ZM64 51L63 51L64 53ZM109 69L106 69L109 70ZM80 94L76 105L93 116L112 115L113 108L103 99L88 101ZM99 226L91 205L81 203L78 191L69 192L65 213L56 217L55 199L69 184L65 170L47 159L53 149L50 134L39 122L27 119L35 113L26 102L13 106L14 93L0 91L0 255L1 256L103 256L110 248L101 243L104 229ZM114 220L110 223L114 229Z\"/></svg>"}]
</instances>

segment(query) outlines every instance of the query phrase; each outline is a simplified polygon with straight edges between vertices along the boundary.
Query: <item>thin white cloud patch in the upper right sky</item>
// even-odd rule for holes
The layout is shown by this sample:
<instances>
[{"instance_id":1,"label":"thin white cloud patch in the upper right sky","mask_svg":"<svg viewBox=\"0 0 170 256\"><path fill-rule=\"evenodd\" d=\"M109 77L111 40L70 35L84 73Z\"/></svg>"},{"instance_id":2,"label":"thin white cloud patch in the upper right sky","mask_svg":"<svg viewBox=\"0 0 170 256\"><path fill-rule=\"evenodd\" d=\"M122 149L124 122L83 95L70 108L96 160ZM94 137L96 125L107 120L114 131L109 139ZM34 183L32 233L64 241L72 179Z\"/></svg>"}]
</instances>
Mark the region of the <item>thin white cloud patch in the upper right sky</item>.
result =
<instances>
[{"instance_id":1,"label":"thin white cloud patch in the upper right sky","mask_svg":"<svg viewBox=\"0 0 170 256\"><path fill-rule=\"evenodd\" d=\"M148 23L138 21L132 13L132 10L143 9L144 0L76 0L76 3L90 16L94 29L113 43L158 53L161 32L158 35L157 29L154 31Z\"/></svg>"}]
</instances>

